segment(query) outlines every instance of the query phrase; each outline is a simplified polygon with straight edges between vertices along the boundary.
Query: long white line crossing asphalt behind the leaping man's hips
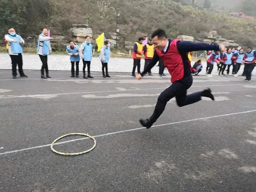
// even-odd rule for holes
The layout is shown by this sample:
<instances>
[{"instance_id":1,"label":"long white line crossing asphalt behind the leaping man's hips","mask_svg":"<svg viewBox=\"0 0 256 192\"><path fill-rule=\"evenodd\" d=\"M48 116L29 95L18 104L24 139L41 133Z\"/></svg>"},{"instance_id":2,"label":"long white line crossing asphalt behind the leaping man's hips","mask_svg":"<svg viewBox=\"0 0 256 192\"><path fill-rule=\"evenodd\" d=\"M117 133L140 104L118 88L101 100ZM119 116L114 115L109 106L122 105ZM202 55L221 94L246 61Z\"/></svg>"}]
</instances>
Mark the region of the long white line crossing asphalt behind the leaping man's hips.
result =
<instances>
[{"instance_id":1,"label":"long white line crossing asphalt behind the leaping man's hips","mask_svg":"<svg viewBox=\"0 0 256 192\"><path fill-rule=\"evenodd\" d=\"M198 86L191 86L191 87L214 87L214 86L233 86L233 85L253 85L253 84L198 85ZM153 89L166 89L166 88L167 88L167 87L149 88L149 89L127 89L127 90L113 90L113 91L95 91L95 92L55 93L55 94L44 94L44 95L21 95L21 96L13 96L13 97L0 97L0 99L22 98L22 97L36 97L36 96L48 96L48 95L69 95L69 94L84 94L84 93L104 93L104 92L121 92L121 91L140 91L140 90L153 90Z\"/></svg>"}]
</instances>

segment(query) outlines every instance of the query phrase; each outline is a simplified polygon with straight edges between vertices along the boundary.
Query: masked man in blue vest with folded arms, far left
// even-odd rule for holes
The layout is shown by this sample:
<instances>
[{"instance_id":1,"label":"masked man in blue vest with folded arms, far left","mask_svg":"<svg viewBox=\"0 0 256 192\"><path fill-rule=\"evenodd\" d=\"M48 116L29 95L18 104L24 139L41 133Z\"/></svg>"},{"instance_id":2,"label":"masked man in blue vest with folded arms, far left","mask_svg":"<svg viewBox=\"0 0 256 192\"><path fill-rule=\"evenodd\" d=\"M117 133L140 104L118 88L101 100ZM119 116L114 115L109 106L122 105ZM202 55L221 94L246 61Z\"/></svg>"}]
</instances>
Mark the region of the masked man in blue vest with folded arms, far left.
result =
<instances>
[{"instance_id":1,"label":"masked man in blue vest with folded arms, far left","mask_svg":"<svg viewBox=\"0 0 256 192\"><path fill-rule=\"evenodd\" d=\"M17 35L14 28L8 28L7 35L4 36L4 39L8 42L9 49L8 53L12 60L12 78L16 79L17 77L17 64L19 68L20 77L28 77L24 74L22 69L22 46L24 40L21 36Z\"/></svg>"}]
</instances>

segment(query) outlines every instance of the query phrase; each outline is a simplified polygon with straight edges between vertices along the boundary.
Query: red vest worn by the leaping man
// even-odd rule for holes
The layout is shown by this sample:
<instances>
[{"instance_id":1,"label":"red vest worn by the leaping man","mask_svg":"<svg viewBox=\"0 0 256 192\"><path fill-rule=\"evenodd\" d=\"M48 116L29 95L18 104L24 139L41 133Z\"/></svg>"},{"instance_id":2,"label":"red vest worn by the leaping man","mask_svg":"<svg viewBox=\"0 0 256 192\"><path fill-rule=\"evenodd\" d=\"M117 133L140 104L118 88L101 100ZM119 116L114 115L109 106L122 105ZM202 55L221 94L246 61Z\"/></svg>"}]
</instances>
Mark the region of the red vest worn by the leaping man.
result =
<instances>
[{"instance_id":1,"label":"red vest worn by the leaping man","mask_svg":"<svg viewBox=\"0 0 256 192\"><path fill-rule=\"evenodd\" d=\"M169 45L169 49L166 53L159 51L156 48L156 54L163 60L164 66L168 69L171 74L171 82L178 81L184 77L184 63L180 52L177 48L177 42L180 39L173 39ZM188 67L192 72L190 61L188 60Z\"/></svg>"}]
</instances>

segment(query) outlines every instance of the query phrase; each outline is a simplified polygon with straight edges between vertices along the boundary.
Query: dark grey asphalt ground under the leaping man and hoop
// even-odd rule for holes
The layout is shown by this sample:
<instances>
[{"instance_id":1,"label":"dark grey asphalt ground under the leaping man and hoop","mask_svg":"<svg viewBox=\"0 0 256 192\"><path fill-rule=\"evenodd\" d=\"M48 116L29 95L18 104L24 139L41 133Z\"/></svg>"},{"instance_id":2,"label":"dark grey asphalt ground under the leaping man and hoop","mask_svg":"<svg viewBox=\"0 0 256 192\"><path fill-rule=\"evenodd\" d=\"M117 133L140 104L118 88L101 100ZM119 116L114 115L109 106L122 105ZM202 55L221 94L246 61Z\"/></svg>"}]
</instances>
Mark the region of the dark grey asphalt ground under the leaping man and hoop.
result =
<instances>
[{"instance_id":1,"label":"dark grey asphalt ground under the leaping man and hoop","mask_svg":"<svg viewBox=\"0 0 256 192\"><path fill-rule=\"evenodd\" d=\"M195 76L188 92L209 87L216 101L179 108L171 100L146 129L138 120L152 114L170 76L25 74L11 79L10 70L0 70L0 191L256 191L255 77ZM95 136L96 148L80 156L51 151L53 140L73 132ZM80 138L54 148L92 147Z\"/></svg>"}]
</instances>

